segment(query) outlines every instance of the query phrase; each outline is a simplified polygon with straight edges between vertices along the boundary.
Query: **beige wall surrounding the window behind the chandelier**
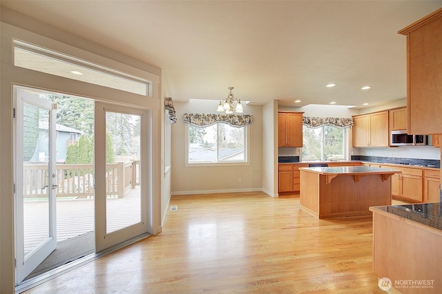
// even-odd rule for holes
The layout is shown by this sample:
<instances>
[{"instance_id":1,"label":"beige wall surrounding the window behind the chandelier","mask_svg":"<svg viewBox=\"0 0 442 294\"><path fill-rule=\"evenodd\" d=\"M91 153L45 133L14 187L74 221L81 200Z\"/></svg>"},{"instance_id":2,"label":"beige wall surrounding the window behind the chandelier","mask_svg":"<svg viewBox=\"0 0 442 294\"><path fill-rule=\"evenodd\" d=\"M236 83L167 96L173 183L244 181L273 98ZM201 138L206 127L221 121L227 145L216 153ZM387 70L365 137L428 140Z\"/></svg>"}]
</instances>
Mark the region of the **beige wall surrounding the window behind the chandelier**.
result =
<instances>
[{"instance_id":1,"label":"beige wall surrounding the window behind the chandelier","mask_svg":"<svg viewBox=\"0 0 442 294\"><path fill-rule=\"evenodd\" d=\"M172 194L261 191L262 189L262 107L243 105L244 114L253 115L249 125L250 165L186 166L186 125L184 113L217 113L219 100L174 101L177 123L172 126ZM241 179L241 182L238 181Z\"/></svg>"}]
</instances>

